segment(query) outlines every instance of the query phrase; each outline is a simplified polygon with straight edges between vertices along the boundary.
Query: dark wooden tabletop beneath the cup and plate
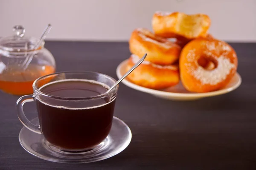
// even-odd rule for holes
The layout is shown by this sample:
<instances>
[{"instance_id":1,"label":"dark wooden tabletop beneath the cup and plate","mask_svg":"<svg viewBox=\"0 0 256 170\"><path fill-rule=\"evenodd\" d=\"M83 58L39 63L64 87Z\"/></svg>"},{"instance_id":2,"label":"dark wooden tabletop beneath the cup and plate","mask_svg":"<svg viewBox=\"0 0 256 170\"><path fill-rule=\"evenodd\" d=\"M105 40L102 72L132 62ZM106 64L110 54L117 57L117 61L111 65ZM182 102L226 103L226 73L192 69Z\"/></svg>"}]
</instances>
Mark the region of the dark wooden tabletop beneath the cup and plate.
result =
<instances>
[{"instance_id":1,"label":"dark wooden tabletop beneath the cup and plate","mask_svg":"<svg viewBox=\"0 0 256 170\"><path fill-rule=\"evenodd\" d=\"M61 164L27 153L19 144L18 96L0 92L1 170L227 170L256 169L256 44L231 43L242 84L229 94L193 102L158 99L121 84L115 116L133 137L118 155L90 164ZM116 78L130 53L121 42L47 42L57 71L98 71ZM29 116L36 116L29 107Z\"/></svg>"}]
</instances>

